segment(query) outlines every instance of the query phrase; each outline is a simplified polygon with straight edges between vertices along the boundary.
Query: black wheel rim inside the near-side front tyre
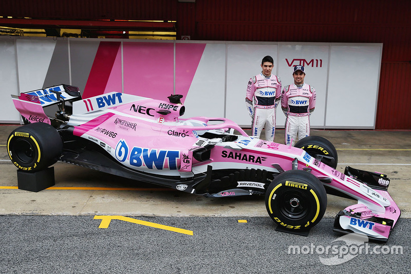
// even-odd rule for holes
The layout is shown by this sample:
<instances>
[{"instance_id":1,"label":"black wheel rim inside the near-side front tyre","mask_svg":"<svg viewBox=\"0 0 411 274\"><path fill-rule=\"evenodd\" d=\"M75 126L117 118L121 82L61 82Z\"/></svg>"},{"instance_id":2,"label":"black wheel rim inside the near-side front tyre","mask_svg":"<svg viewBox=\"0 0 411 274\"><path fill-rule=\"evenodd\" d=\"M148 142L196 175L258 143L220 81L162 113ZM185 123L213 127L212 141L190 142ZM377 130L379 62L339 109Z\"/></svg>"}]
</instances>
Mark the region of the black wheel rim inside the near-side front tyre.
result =
<instances>
[{"instance_id":1,"label":"black wheel rim inside the near-side front tyre","mask_svg":"<svg viewBox=\"0 0 411 274\"><path fill-rule=\"evenodd\" d=\"M308 214L309 199L300 190L286 190L279 197L280 212L291 220L300 220Z\"/></svg>"}]
</instances>

